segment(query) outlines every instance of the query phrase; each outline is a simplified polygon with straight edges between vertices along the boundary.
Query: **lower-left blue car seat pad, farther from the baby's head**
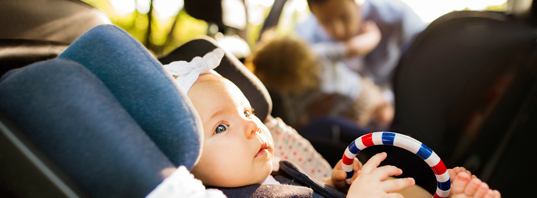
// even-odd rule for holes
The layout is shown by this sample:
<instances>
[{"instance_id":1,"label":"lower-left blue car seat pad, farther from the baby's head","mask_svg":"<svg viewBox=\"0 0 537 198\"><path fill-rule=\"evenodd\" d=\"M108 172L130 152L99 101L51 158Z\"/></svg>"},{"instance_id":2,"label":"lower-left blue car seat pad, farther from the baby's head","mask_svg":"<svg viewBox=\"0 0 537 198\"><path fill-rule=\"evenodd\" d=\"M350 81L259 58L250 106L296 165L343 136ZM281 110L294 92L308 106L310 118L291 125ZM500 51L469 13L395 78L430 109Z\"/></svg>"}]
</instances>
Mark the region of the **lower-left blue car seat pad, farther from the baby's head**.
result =
<instances>
[{"instance_id":1,"label":"lower-left blue car seat pad, farther from the baby's head","mask_svg":"<svg viewBox=\"0 0 537 198\"><path fill-rule=\"evenodd\" d=\"M8 72L0 108L93 197L146 196L175 169L106 85L72 60Z\"/></svg>"}]
</instances>

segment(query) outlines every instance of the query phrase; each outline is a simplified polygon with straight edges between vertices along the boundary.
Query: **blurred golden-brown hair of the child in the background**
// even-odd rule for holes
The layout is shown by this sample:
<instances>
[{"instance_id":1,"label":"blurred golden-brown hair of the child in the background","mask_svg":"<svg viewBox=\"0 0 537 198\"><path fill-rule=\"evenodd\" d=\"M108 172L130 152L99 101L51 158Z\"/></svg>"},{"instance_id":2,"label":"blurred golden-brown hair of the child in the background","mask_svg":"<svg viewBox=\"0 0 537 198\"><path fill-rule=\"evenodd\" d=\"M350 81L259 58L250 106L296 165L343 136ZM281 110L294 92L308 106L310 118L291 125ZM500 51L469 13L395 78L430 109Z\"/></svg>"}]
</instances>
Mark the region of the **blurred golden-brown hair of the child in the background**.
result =
<instances>
[{"instance_id":1,"label":"blurred golden-brown hair of the child in the background","mask_svg":"<svg viewBox=\"0 0 537 198\"><path fill-rule=\"evenodd\" d=\"M308 44L294 35L262 41L253 53L252 66L267 88L282 94L301 94L317 88L322 72Z\"/></svg>"}]
</instances>

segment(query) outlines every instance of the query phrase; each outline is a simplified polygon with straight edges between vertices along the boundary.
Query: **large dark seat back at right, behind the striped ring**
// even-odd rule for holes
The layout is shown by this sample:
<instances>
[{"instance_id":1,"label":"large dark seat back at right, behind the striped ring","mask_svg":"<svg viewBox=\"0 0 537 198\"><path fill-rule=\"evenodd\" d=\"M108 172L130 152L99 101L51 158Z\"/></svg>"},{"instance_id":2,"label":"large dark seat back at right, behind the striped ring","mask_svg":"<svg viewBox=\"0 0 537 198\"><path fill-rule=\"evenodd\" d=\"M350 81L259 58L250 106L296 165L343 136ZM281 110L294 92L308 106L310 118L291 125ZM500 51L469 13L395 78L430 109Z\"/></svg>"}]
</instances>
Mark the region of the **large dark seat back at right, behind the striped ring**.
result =
<instances>
[{"instance_id":1,"label":"large dark seat back at right, behind the striped ring","mask_svg":"<svg viewBox=\"0 0 537 198\"><path fill-rule=\"evenodd\" d=\"M526 113L535 103L535 39L535 27L501 12L452 12L433 21L397 67L395 126L432 145L447 166L463 165L516 196L524 188L487 179L501 172L495 160L505 157L503 150L520 145L510 134L534 134L517 123L536 119Z\"/></svg>"}]
</instances>

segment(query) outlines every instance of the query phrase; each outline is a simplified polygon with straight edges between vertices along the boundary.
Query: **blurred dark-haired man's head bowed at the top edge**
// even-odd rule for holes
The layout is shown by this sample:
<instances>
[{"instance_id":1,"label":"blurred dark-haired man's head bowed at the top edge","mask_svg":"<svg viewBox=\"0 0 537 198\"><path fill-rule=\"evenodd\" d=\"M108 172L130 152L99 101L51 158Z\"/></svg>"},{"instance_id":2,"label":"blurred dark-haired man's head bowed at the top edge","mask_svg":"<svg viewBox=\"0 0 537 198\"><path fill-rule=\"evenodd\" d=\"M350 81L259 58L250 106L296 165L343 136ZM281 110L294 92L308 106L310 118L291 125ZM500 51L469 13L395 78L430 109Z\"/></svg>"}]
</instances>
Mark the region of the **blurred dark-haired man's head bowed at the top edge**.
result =
<instances>
[{"instance_id":1,"label":"blurred dark-haired man's head bowed at the top edge","mask_svg":"<svg viewBox=\"0 0 537 198\"><path fill-rule=\"evenodd\" d=\"M354 0L308 0L308 5L332 39L345 41L360 32L362 17Z\"/></svg>"}]
</instances>

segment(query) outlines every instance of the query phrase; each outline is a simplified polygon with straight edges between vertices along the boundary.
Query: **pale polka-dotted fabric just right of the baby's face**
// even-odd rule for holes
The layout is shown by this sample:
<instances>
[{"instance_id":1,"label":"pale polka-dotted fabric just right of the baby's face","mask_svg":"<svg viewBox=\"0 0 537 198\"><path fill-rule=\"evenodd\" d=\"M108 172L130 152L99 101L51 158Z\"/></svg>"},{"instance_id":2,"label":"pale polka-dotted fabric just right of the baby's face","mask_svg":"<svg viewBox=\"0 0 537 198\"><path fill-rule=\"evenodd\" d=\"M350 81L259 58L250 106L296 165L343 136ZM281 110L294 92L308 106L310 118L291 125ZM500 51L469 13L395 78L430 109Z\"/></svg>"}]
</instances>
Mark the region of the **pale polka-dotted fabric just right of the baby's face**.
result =
<instances>
[{"instance_id":1,"label":"pale polka-dotted fabric just right of the baby's face","mask_svg":"<svg viewBox=\"0 0 537 198\"><path fill-rule=\"evenodd\" d=\"M274 140L274 156L295 163L316 179L330 177L330 164L294 128L280 118L272 118L265 125Z\"/></svg>"}]
</instances>

